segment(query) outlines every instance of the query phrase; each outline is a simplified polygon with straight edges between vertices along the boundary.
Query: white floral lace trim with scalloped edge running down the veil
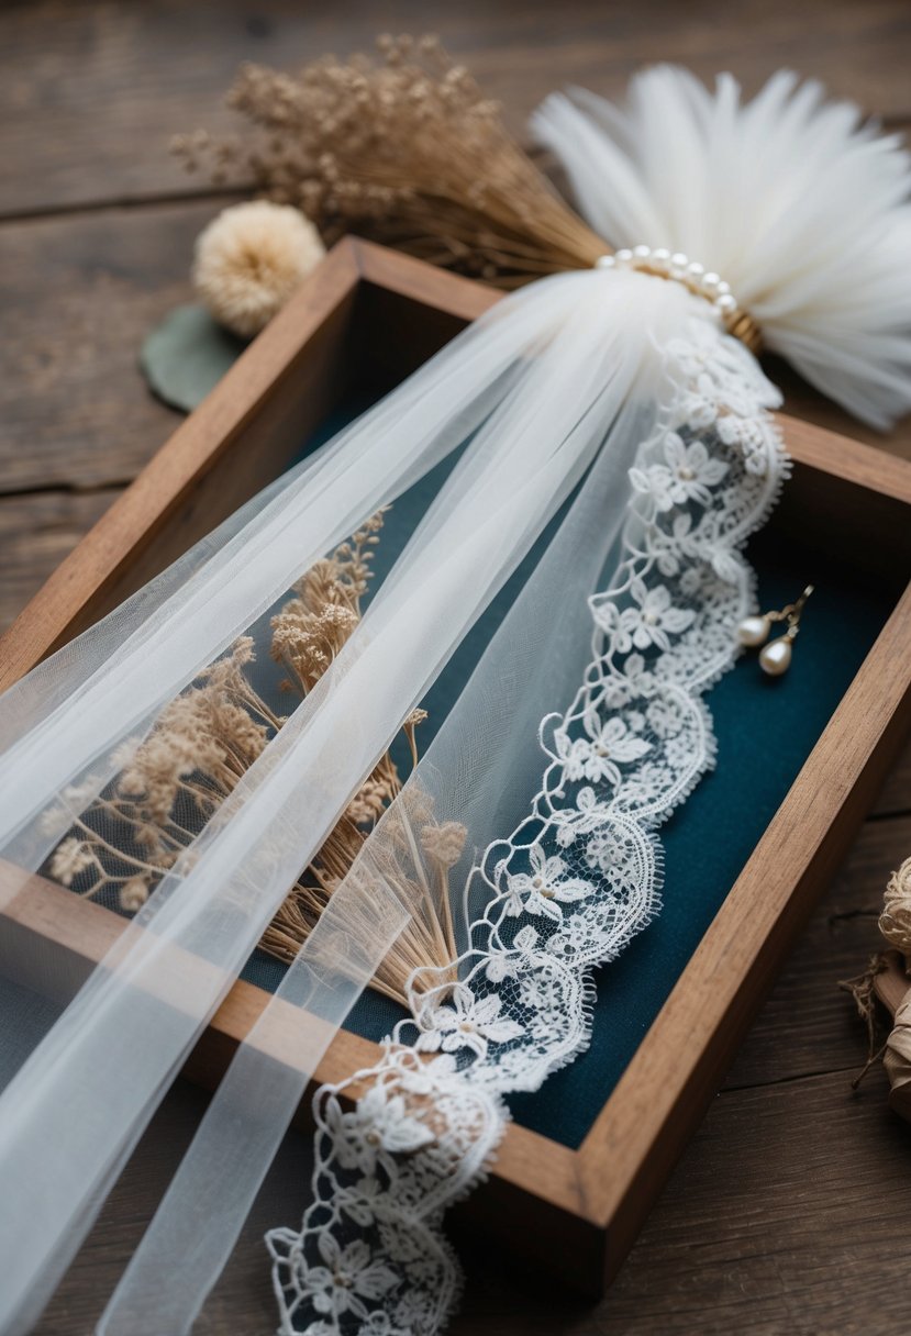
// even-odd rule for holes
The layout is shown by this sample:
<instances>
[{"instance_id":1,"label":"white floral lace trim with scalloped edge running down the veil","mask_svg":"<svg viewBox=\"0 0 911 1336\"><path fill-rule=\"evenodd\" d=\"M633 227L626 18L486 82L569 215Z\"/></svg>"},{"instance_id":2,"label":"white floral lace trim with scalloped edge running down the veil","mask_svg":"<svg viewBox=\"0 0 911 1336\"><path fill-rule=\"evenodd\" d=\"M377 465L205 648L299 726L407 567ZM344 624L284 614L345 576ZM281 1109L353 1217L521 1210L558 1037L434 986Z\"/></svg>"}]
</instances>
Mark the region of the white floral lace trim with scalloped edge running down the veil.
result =
<instances>
[{"instance_id":1,"label":"white floral lace trim with scalloped edge running down the veil","mask_svg":"<svg viewBox=\"0 0 911 1336\"><path fill-rule=\"evenodd\" d=\"M586 1046L592 967L657 912L655 828L713 763L701 693L736 656L753 604L741 549L787 472L777 391L739 343L693 317L663 369L624 561L589 600L593 659L569 709L541 724L528 816L472 868L470 947L415 971L411 1015L373 1070L317 1094L315 1200L299 1232L267 1237L282 1336L445 1325L461 1273L442 1216L484 1176L502 1096Z\"/></svg>"}]
</instances>

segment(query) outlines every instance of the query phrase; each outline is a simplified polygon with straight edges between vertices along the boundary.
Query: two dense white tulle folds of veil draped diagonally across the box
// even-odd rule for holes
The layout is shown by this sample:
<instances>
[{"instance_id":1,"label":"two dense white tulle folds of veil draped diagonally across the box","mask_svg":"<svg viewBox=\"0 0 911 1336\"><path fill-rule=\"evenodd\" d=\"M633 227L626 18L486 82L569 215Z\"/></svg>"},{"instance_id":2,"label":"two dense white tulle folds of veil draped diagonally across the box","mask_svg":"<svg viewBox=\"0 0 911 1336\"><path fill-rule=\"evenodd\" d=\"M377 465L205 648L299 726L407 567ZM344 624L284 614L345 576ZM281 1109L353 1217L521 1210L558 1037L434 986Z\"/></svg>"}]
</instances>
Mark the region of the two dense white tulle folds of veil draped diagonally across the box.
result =
<instances>
[{"instance_id":1,"label":"two dense white tulle folds of veil draped diagonally across the box","mask_svg":"<svg viewBox=\"0 0 911 1336\"><path fill-rule=\"evenodd\" d=\"M56 704L53 661L4 697L7 732L19 735L0 762L11 786L1 850L12 900L29 894L28 874L59 838L48 834L47 812L63 803L77 816L118 774L122 743L301 573L301 533L314 546L314 532L321 544L335 541L470 436L333 668L49 1034L44 1006L32 1021L20 1011L17 1054L36 1047L0 1096L4 1329L25 1329L40 1309L200 1029L402 720L604 448L630 395L652 401L652 339L688 318L693 302L641 275L592 273L502 303L289 489L272 492L208 560L194 558L187 581L163 578L156 613L108 619L84 637L87 652L61 668L68 703ZM622 452L633 446L622 436L612 454L617 516L629 497L632 456ZM386 448L391 481L365 462ZM306 561L321 550L307 546ZM98 637L111 641L108 653ZM89 669L81 680L80 663ZM35 693L55 708L43 715ZM39 716L25 733L20 712ZM180 962L191 958L204 966L184 979ZM166 1005L162 978L176 979ZM23 1220L16 1202L27 1198L33 1209Z\"/></svg>"}]
</instances>

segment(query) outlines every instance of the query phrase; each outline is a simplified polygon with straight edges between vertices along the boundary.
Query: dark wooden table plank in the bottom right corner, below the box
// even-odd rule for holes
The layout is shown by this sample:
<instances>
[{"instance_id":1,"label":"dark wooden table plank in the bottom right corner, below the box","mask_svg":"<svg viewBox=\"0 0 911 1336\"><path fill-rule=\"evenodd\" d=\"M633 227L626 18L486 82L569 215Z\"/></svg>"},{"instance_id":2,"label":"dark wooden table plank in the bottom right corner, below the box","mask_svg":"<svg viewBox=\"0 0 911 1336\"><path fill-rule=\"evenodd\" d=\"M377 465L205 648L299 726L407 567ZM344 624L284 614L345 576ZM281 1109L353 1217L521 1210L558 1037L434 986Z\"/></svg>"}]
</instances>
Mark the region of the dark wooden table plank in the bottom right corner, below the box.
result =
<instances>
[{"instance_id":1,"label":"dark wooden table plank in the bottom right corner, below the box","mask_svg":"<svg viewBox=\"0 0 911 1336\"><path fill-rule=\"evenodd\" d=\"M453 1336L904 1336L910 1189L882 1073L731 1092L600 1305L476 1255Z\"/></svg>"}]
</instances>

